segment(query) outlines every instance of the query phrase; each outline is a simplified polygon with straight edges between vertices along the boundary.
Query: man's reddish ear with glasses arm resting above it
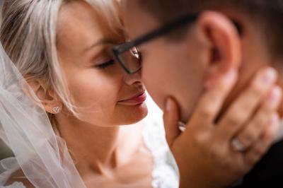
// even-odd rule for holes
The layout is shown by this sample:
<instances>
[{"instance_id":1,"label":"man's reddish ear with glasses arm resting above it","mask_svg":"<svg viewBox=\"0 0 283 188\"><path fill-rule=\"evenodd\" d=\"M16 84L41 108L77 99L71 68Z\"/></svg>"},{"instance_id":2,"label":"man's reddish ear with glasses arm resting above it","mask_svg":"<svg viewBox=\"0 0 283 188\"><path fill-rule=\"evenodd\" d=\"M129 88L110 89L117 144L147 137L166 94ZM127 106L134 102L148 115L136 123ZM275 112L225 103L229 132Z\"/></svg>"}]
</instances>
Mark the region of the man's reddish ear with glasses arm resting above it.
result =
<instances>
[{"instance_id":1,"label":"man's reddish ear with glasses arm resting above it","mask_svg":"<svg viewBox=\"0 0 283 188\"><path fill-rule=\"evenodd\" d=\"M241 64L241 37L233 22L224 14L204 11L197 22L197 32L209 44L206 81L211 82L238 69Z\"/></svg>"}]
</instances>

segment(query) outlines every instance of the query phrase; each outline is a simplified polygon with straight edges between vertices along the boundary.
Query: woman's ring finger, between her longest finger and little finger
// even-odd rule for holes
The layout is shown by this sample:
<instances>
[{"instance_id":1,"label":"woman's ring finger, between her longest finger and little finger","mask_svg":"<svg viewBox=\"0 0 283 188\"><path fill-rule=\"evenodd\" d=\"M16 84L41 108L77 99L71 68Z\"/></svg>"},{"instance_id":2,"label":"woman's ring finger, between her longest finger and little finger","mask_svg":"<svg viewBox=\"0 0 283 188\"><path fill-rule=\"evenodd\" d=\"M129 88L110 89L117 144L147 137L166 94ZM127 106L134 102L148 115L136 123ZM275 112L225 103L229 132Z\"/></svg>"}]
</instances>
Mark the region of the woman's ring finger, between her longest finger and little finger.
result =
<instances>
[{"instance_id":1,"label":"woman's ring finger, between her longest finger and little finger","mask_svg":"<svg viewBox=\"0 0 283 188\"><path fill-rule=\"evenodd\" d=\"M243 143L243 146L249 148L260 138L265 127L270 126L268 124L270 117L272 117L272 114L277 111L281 98L281 88L278 86L273 88L271 93L268 95L267 100L265 100L265 103L262 105L260 110L258 110L257 114L255 114L253 120L248 123L248 126L244 127L244 129L238 133L238 136L236 136L238 140Z\"/></svg>"}]
</instances>

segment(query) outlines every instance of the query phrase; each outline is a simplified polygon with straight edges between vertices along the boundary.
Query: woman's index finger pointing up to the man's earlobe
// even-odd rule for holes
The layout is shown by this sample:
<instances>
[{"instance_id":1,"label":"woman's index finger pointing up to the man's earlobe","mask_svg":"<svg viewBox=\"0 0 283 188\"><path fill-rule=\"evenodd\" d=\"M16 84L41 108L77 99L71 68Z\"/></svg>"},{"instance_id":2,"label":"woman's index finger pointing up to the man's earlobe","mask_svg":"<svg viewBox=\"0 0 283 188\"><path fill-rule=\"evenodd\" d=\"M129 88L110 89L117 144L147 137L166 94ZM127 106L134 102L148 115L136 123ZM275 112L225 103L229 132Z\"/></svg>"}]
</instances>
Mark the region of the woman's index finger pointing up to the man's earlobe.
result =
<instances>
[{"instance_id":1,"label":"woman's index finger pointing up to the man's earlobe","mask_svg":"<svg viewBox=\"0 0 283 188\"><path fill-rule=\"evenodd\" d=\"M236 83L237 76L236 69L231 69L202 95L188 126L196 127L201 131L212 128L212 122L216 119L226 96Z\"/></svg>"}]
</instances>

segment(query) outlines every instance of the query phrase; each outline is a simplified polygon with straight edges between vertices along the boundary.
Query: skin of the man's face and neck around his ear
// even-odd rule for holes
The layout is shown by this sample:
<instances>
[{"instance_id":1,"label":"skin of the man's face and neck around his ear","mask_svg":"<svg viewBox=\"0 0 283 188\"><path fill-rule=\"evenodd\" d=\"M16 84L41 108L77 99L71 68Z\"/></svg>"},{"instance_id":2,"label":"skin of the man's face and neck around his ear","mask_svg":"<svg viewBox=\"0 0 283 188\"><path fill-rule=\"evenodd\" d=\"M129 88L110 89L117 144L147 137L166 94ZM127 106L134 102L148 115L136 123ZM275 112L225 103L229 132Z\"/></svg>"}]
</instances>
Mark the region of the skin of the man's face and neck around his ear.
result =
<instances>
[{"instance_id":1,"label":"skin of the man's face and neck around his ear","mask_svg":"<svg viewBox=\"0 0 283 188\"><path fill-rule=\"evenodd\" d=\"M122 1L122 8L126 32L131 39L140 37L161 26L158 20L144 11L137 1ZM241 23L242 20L245 20L243 27L246 32L244 36L241 38L235 36L229 39L233 40L233 46L236 42L241 42L241 47L237 47L238 49L233 47L233 59L229 59L231 62L223 62L219 59L216 59L218 62L209 61L212 56L212 47L215 44L205 38L207 36L204 36L203 28L201 28L204 25L200 24L195 25L187 32L187 37L184 37L183 42L174 42L167 40L166 37L160 37L139 46L143 58L142 80L147 90L162 109L165 109L166 98L173 95L180 104L183 122L187 122L192 114L206 83L227 71L222 68L236 67L241 71L237 86L228 99L228 102L231 103L232 99L230 98L235 98L243 90L250 78L255 76L256 71L262 67L270 66L268 62L274 61L267 50L265 41L261 40L264 35L258 32L258 30L261 30L261 25L249 24L251 20L233 11L226 14L231 18L240 20ZM214 16L215 18L216 16ZM207 23L204 24L212 21L213 19L207 19ZM234 31L230 30L229 33L236 32L235 28L233 29ZM219 38L219 42L221 40L226 42L224 37ZM248 44L255 45L251 47ZM242 54L242 52L245 53ZM216 66L212 66L212 63L216 63ZM166 76L170 76L170 78L163 79L168 72L171 74Z\"/></svg>"}]
</instances>

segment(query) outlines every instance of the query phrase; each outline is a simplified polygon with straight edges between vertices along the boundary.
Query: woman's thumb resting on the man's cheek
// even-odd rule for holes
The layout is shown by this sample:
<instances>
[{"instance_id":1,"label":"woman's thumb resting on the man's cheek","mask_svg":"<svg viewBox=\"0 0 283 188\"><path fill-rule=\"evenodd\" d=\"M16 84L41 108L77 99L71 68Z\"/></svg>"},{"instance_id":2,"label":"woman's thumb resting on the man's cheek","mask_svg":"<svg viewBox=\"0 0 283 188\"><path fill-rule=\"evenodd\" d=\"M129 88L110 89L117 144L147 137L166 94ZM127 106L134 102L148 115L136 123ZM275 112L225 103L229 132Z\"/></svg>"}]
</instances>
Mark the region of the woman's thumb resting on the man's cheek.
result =
<instances>
[{"instance_id":1,"label":"woman's thumb resting on the man's cheek","mask_svg":"<svg viewBox=\"0 0 283 188\"><path fill-rule=\"evenodd\" d=\"M168 98L166 101L166 110L163 114L163 121L166 132L166 140L168 146L171 148L176 138L181 134L178 127L179 111L178 105L172 98Z\"/></svg>"}]
</instances>

